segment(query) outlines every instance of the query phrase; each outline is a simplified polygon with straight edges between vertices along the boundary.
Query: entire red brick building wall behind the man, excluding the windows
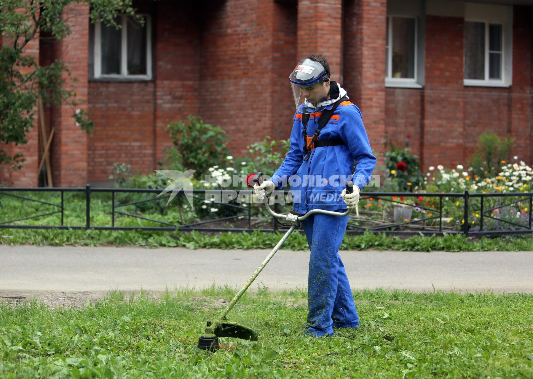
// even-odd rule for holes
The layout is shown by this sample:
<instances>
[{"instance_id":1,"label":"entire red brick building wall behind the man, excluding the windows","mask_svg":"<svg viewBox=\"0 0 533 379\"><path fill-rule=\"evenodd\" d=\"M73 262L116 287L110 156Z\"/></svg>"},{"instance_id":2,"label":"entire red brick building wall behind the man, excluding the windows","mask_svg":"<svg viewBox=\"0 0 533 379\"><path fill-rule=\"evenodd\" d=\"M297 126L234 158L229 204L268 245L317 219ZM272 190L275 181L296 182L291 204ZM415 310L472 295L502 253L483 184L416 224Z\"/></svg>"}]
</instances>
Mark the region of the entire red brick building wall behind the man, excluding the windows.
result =
<instances>
[{"instance_id":1,"label":"entire red brick building wall behind the man, excluding the windows","mask_svg":"<svg viewBox=\"0 0 533 379\"><path fill-rule=\"evenodd\" d=\"M464 164L479 134L491 128L516 138L513 155L528 163L533 158L531 7L514 7L512 87L465 87L463 18L427 15L425 85L405 89L384 87L385 0L134 5L153 16L151 81L88 83L88 9L82 5L67 9L72 35L53 46L41 44L42 62L61 57L78 77L78 97L88 101L82 107L95 123L93 136L87 137L70 117L70 106L47 111L47 125L56 128L55 185L106 180L116 162L151 172L171 146L166 126L188 114L222 126L237 156L265 135L288 138L294 103L287 77L309 53L326 55L333 79L360 107L377 153L383 152L387 133L420 155L424 167ZM39 56L38 45L31 48ZM25 169L0 168L0 180L36 184L37 129L31 133L22 149L30 158Z\"/></svg>"}]
</instances>

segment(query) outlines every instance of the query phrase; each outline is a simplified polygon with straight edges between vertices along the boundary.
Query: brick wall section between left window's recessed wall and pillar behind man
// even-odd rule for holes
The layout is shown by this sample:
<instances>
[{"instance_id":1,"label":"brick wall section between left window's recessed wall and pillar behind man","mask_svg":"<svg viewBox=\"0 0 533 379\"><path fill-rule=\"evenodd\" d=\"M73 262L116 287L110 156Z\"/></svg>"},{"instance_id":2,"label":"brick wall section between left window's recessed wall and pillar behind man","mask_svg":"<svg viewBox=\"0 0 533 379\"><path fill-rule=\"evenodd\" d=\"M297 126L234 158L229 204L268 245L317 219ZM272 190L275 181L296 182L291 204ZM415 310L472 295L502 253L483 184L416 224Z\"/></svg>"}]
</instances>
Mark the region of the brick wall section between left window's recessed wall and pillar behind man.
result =
<instances>
[{"instance_id":1,"label":"brick wall section between left window's recessed wall and pillar behind man","mask_svg":"<svg viewBox=\"0 0 533 379\"><path fill-rule=\"evenodd\" d=\"M200 113L224 127L237 156L265 135L290 134L294 102L286 78L296 65L295 3L282 3L232 0L203 11Z\"/></svg>"}]
</instances>

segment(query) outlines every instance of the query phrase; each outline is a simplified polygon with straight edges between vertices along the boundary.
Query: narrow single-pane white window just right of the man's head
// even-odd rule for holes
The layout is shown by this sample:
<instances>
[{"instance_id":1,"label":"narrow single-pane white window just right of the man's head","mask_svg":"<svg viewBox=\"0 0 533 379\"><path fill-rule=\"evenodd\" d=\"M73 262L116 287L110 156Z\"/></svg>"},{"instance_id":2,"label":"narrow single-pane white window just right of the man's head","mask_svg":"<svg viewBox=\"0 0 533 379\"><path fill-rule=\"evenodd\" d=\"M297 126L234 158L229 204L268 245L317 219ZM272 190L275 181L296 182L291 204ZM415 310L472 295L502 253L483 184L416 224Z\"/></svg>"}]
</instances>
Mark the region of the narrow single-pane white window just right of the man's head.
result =
<instances>
[{"instance_id":1,"label":"narrow single-pane white window just right of the man's head","mask_svg":"<svg viewBox=\"0 0 533 379\"><path fill-rule=\"evenodd\" d=\"M395 87L422 87L417 83L417 19L387 17L385 84Z\"/></svg>"}]
</instances>

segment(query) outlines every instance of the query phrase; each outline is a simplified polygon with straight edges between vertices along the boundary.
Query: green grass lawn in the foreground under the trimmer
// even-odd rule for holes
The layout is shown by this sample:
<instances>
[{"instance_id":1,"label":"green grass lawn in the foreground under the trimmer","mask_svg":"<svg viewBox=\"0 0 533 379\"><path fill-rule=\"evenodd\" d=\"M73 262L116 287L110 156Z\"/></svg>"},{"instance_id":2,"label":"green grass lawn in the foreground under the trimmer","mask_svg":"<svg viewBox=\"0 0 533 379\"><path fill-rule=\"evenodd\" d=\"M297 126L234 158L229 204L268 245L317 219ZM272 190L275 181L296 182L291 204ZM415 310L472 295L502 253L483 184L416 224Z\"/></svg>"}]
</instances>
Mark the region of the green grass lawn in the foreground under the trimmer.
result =
<instances>
[{"instance_id":1,"label":"green grass lawn in the foreground under the trimmer","mask_svg":"<svg viewBox=\"0 0 533 379\"><path fill-rule=\"evenodd\" d=\"M306 292L260 286L229 314L260 340L197 349L235 292L113 292L82 310L2 304L0 377L533 377L532 295L356 292L361 326L313 339Z\"/></svg>"}]
</instances>

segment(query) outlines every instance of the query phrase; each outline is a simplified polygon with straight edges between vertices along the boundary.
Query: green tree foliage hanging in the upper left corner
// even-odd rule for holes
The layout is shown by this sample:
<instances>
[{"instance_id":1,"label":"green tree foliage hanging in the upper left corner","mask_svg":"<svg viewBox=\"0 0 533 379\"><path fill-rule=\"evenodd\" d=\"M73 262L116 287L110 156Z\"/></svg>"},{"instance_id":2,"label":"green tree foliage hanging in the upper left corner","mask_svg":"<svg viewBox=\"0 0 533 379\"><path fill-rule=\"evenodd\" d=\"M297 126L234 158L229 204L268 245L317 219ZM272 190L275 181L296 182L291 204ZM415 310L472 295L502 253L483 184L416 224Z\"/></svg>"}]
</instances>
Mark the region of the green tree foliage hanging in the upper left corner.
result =
<instances>
[{"instance_id":1,"label":"green tree foliage hanging in the upper left corner","mask_svg":"<svg viewBox=\"0 0 533 379\"><path fill-rule=\"evenodd\" d=\"M76 83L68 67L60 59L43 67L26 50L37 38L59 40L70 34L70 20L63 11L71 4L90 6L91 22L102 21L117 28L119 13L135 11L132 0L0 0L0 142L27 143L39 96L45 104L69 104L77 125L91 132L93 123L83 109L78 109L81 101L75 90L66 89L68 80ZM22 154L11 155L0 149L0 163L20 169L23 161Z\"/></svg>"}]
</instances>

